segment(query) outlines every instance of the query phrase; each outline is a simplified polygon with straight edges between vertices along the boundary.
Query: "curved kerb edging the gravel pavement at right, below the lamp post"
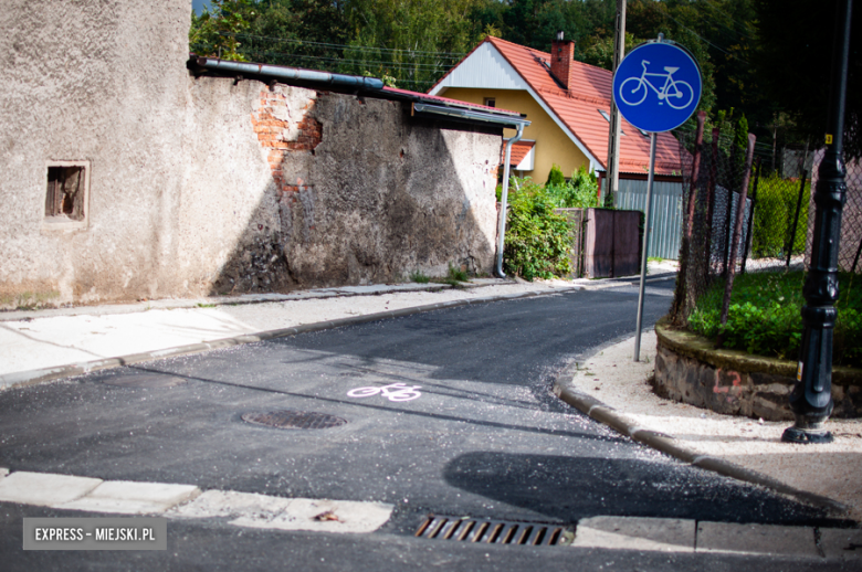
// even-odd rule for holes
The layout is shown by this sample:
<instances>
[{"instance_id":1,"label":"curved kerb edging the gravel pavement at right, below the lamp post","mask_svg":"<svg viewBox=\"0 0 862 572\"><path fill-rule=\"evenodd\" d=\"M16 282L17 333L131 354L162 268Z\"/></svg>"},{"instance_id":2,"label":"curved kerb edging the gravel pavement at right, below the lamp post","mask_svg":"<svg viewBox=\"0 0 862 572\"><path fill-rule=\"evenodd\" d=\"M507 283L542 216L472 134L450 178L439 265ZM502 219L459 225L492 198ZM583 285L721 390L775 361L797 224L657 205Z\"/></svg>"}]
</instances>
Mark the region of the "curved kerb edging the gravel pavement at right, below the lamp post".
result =
<instances>
[{"instance_id":1,"label":"curved kerb edging the gravel pavement at right, below the lamp post","mask_svg":"<svg viewBox=\"0 0 862 572\"><path fill-rule=\"evenodd\" d=\"M832 500L831 498L790 487L755 470L740 467L739 465L721 458L701 455L686 447L680 446L674 443L673 437L633 425L626 417L618 414L613 407L606 405L590 395L566 388L561 385L559 381L554 382L554 393L590 419L603 423L622 435L631 437L639 443L643 443L649 447L675 457L684 463L717 473L725 477L735 478L736 480L770 488L782 495L808 502L809 505L824 508L833 515L845 515L850 510L845 505Z\"/></svg>"}]
</instances>

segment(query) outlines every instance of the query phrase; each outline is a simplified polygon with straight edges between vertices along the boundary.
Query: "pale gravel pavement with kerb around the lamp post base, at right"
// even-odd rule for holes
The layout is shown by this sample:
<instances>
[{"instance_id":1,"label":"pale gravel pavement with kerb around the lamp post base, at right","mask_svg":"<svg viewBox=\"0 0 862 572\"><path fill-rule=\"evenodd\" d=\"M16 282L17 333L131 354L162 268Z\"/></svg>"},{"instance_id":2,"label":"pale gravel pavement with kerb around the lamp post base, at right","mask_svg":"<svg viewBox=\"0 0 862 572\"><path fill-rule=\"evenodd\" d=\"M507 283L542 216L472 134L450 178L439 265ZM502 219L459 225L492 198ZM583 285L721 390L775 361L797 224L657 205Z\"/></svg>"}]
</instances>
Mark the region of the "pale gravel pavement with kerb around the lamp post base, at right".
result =
<instances>
[{"instance_id":1,"label":"pale gravel pavement with kerb around the lamp post base, at right","mask_svg":"<svg viewBox=\"0 0 862 572\"><path fill-rule=\"evenodd\" d=\"M833 420L835 443L800 447L780 442L788 422L722 415L664 400L649 384L655 332L644 333L642 361L632 362L633 338L574 363L554 393L591 419L700 468L765 486L862 519L862 421Z\"/></svg>"}]
</instances>

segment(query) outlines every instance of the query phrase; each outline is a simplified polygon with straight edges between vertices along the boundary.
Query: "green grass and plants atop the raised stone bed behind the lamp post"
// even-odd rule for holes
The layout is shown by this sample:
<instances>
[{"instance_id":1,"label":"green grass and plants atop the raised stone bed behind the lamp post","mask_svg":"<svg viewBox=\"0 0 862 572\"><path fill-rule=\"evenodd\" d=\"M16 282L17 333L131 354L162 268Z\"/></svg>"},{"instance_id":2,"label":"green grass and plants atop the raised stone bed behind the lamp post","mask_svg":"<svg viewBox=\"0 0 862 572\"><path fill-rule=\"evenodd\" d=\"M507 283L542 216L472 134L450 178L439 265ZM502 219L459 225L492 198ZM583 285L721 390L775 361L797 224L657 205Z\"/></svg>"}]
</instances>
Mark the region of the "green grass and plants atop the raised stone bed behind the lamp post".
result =
<instances>
[{"instance_id":1,"label":"green grass and plants atop the raised stone bed behind the lamp post","mask_svg":"<svg viewBox=\"0 0 862 572\"><path fill-rule=\"evenodd\" d=\"M802 342L802 272L749 273L734 280L724 347L787 360L799 358ZM832 360L862 367L862 276L841 274ZM688 318L692 331L716 339L722 333L724 280L697 300Z\"/></svg>"}]
</instances>

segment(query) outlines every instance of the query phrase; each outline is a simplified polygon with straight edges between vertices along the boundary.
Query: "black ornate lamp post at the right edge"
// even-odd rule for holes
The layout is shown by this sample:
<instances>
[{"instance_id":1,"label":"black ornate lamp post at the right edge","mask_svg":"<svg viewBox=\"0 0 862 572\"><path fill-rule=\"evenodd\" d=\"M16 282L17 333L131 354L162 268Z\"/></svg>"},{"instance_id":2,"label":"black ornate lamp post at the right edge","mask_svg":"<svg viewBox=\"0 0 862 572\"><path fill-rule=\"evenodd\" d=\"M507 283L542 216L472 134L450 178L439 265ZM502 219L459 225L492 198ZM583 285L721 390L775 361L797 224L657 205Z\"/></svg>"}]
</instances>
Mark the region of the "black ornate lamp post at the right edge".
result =
<instances>
[{"instance_id":1,"label":"black ornate lamp post at the right edge","mask_svg":"<svg viewBox=\"0 0 862 572\"><path fill-rule=\"evenodd\" d=\"M841 213L847 202L847 170L842 159L844 96L850 52L850 15L853 0L842 0L835 14L832 49L832 82L829 95L827 151L814 189L814 236L811 266L802 294L802 348L797 382L790 394L796 424L785 430L788 443L830 443L832 434L823 426L832 414L832 332L838 310L838 254Z\"/></svg>"}]
</instances>

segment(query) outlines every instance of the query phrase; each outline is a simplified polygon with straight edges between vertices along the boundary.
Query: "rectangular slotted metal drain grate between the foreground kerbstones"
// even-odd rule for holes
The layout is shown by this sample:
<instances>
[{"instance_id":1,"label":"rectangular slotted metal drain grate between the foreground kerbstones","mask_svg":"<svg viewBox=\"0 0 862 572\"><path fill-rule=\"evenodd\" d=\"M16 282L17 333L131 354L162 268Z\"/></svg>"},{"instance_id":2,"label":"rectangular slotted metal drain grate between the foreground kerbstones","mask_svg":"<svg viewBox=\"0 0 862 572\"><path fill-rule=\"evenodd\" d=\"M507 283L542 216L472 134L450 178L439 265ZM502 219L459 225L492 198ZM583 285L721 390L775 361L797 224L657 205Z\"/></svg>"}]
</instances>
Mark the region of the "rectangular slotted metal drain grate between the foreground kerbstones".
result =
<instances>
[{"instance_id":1,"label":"rectangular slotted metal drain grate between the foreground kerbstones","mask_svg":"<svg viewBox=\"0 0 862 572\"><path fill-rule=\"evenodd\" d=\"M575 532L572 528L560 525L430 515L417 529L416 537L486 544L553 547L571 543Z\"/></svg>"}]
</instances>

